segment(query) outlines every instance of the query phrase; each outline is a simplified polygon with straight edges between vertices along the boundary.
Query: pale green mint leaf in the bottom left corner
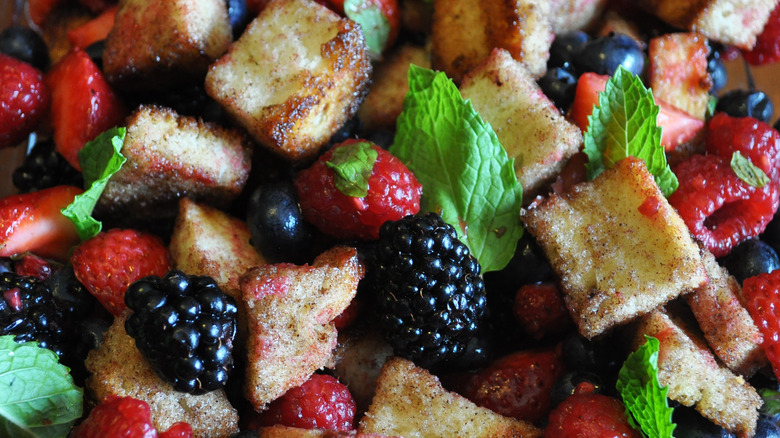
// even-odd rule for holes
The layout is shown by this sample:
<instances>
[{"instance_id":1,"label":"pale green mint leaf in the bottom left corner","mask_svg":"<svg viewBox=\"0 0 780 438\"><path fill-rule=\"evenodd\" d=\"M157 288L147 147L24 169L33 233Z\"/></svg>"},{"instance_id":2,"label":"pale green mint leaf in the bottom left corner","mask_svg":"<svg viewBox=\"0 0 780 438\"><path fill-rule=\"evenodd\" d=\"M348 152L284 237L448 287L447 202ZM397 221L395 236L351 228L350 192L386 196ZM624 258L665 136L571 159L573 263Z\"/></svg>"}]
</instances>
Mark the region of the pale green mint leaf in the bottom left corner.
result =
<instances>
[{"instance_id":1,"label":"pale green mint leaf in the bottom left corner","mask_svg":"<svg viewBox=\"0 0 780 438\"><path fill-rule=\"evenodd\" d=\"M53 351L0 336L0 436L66 437L83 393Z\"/></svg>"}]
</instances>

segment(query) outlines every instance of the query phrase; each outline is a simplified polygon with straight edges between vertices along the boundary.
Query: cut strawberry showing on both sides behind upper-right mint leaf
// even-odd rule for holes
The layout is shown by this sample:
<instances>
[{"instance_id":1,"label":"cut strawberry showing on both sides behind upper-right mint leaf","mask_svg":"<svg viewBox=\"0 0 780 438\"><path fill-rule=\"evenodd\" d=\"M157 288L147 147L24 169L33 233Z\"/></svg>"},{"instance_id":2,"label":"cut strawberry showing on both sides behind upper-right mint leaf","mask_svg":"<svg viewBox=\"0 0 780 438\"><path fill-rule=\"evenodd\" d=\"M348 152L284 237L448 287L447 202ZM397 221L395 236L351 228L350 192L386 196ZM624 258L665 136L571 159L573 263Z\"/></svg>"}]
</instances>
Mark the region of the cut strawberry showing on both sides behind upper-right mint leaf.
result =
<instances>
[{"instance_id":1,"label":"cut strawberry showing on both sides behind upper-right mint leaf","mask_svg":"<svg viewBox=\"0 0 780 438\"><path fill-rule=\"evenodd\" d=\"M588 129L588 116L598 105L599 93L607 87L609 76L584 73L577 82L577 92L569 116L583 131ZM667 151L690 141L704 127L704 122L685 111L656 99L660 108L657 124L663 129L661 144Z\"/></svg>"}]
</instances>

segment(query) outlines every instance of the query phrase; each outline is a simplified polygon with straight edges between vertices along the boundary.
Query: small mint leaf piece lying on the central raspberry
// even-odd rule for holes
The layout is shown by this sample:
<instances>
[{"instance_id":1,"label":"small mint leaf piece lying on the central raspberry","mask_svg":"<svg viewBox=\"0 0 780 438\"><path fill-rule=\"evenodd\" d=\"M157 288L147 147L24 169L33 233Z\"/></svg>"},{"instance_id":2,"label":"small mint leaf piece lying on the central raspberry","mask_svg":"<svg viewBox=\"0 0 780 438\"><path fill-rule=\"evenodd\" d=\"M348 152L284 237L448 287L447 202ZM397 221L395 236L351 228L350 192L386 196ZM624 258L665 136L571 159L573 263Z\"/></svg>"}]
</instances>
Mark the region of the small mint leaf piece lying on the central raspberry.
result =
<instances>
[{"instance_id":1,"label":"small mint leaf piece lying on the central raspberry","mask_svg":"<svg viewBox=\"0 0 780 438\"><path fill-rule=\"evenodd\" d=\"M378 155L369 142L350 143L334 149L325 164L333 170L333 182L341 193L362 198L368 195L368 178Z\"/></svg>"}]
</instances>

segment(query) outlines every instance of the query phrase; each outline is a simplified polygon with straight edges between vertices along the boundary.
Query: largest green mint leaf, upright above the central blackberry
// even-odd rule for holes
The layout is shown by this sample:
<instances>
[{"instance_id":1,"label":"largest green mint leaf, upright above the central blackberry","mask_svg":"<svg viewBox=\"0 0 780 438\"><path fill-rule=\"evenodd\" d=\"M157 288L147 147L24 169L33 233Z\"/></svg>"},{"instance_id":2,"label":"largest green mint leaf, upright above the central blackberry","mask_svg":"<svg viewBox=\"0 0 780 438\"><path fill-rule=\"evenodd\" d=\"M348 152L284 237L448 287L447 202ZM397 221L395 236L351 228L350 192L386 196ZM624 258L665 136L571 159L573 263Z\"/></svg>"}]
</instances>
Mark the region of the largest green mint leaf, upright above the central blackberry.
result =
<instances>
[{"instance_id":1,"label":"largest green mint leaf, upright above the central blackberry","mask_svg":"<svg viewBox=\"0 0 780 438\"><path fill-rule=\"evenodd\" d=\"M444 73L412 65L409 89L390 152L422 184L421 209L455 227L483 272L502 269L523 234L513 160Z\"/></svg>"}]
</instances>

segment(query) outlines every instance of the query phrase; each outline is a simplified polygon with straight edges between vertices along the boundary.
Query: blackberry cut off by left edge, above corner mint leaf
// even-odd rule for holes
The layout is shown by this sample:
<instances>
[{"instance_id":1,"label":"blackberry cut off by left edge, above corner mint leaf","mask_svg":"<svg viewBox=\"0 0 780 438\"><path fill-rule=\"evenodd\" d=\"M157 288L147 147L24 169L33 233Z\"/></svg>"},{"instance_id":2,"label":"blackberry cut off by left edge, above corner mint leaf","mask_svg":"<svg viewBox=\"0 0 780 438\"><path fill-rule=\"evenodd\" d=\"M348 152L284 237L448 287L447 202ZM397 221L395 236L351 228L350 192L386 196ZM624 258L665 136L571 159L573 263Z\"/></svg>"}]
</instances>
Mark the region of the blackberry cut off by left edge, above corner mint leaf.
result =
<instances>
[{"instance_id":1,"label":"blackberry cut off by left edge, above corner mint leaf","mask_svg":"<svg viewBox=\"0 0 780 438\"><path fill-rule=\"evenodd\" d=\"M60 357L69 351L67 322L45 283L4 272L0 298L0 336L13 335L20 343L36 341Z\"/></svg>"}]
</instances>

